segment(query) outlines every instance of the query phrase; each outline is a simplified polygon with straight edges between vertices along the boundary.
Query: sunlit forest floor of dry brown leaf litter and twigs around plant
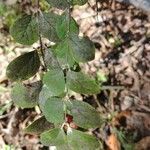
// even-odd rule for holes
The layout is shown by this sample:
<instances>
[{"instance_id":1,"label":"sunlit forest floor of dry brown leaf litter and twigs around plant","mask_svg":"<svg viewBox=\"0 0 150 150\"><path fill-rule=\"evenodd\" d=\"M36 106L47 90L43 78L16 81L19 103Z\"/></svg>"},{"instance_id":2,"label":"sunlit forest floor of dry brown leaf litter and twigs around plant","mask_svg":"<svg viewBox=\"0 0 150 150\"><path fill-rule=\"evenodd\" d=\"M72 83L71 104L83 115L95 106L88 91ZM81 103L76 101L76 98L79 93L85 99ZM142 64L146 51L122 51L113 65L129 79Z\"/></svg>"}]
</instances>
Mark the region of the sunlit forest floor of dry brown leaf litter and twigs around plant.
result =
<instances>
[{"instance_id":1,"label":"sunlit forest floor of dry brown leaf litter and twigs around plant","mask_svg":"<svg viewBox=\"0 0 150 150\"><path fill-rule=\"evenodd\" d=\"M75 95L92 104L108 124L93 131L107 150L150 149L150 20L133 6L118 2L90 2L72 12L80 35L95 44L95 59L82 64L85 72L107 79L98 95ZM38 108L21 109L13 105L13 86L5 71L8 63L30 50L13 43L3 22L0 23L0 150L48 149L39 137L23 132L38 118ZM132 150L132 148L131 148Z\"/></svg>"}]
</instances>

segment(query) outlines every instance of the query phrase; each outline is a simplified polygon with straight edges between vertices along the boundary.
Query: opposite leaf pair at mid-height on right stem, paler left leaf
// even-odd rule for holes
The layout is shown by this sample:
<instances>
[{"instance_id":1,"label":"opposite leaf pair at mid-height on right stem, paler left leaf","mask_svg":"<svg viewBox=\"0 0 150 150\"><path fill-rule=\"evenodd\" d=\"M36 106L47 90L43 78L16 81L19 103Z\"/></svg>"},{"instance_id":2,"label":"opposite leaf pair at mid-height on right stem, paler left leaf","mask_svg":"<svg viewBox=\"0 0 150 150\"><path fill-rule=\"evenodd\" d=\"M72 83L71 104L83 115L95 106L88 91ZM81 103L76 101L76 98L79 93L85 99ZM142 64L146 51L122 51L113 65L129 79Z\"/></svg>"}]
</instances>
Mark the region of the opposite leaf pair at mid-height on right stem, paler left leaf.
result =
<instances>
[{"instance_id":1,"label":"opposite leaf pair at mid-height on right stem, paler left leaf","mask_svg":"<svg viewBox=\"0 0 150 150\"><path fill-rule=\"evenodd\" d=\"M50 70L44 75L43 83L51 96L61 96L65 93L65 88L81 94L97 94L100 92L100 87L96 81L81 72L69 71L65 83L62 70Z\"/></svg>"}]
</instances>

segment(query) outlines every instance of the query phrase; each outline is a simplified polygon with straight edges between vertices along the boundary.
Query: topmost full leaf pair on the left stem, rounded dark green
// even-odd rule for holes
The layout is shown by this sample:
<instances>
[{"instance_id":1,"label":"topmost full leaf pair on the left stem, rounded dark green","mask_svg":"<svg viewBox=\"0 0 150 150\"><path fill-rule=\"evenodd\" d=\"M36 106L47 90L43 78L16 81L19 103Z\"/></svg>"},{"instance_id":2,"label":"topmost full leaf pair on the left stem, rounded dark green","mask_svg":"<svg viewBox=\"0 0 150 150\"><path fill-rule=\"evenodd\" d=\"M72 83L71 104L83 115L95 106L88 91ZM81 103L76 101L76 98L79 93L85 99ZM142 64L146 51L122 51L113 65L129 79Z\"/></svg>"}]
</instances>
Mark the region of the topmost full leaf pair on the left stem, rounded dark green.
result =
<instances>
[{"instance_id":1,"label":"topmost full leaf pair on the left stem, rounded dark green","mask_svg":"<svg viewBox=\"0 0 150 150\"><path fill-rule=\"evenodd\" d=\"M32 45L39 38L39 34L58 41L55 25L58 15L42 13L38 17L24 14L11 26L10 34L20 44Z\"/></svg>"}]
</instances>

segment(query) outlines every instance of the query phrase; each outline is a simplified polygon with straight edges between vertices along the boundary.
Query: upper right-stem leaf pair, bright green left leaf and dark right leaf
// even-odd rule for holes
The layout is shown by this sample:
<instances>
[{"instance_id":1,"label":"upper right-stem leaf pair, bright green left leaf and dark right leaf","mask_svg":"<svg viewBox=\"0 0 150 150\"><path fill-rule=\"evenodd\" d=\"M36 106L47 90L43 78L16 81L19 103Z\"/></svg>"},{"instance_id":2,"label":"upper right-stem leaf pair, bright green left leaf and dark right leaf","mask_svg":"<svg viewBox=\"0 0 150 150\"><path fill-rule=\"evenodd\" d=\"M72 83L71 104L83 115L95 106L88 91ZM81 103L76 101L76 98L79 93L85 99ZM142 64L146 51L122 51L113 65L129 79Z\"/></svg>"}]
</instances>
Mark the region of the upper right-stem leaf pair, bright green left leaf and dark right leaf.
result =
<instances>
[{"instance_id":1,"label":"upper right-stem leaf pair, bright green left leaf and dark right leaf","mask_svg":"<svg viewBox=\"0 0 150 150\"><path fill-rule=\"evenodd\" d=\"M56 56L63 64L71 67L75 62L88 62L95 57L93 43L87 38L79 38L77 34L70 34L56 47Z\"/></svg>"}]
</instances>

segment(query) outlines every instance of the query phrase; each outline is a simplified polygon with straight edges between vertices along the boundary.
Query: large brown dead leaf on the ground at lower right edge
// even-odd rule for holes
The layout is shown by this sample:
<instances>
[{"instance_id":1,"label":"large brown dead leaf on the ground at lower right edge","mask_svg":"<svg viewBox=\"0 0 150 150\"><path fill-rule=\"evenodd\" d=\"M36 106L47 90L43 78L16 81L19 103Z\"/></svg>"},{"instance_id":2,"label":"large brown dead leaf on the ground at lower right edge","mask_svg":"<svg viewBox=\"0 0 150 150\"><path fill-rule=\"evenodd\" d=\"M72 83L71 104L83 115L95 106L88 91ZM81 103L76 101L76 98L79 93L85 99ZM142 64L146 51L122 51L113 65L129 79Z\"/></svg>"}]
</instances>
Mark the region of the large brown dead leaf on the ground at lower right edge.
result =
<instances>
[{"instance_id":1,"label":"large brown dead leaf on the ground at lower right edge","mask_svg":"<svg viewBox=\"0 0 150 150\"><path fill-rule=\"evenodd\" d=\"M138 111L122 111L114 119L112 124L124 127L138 133L139 138L150 136L150 113Z\"/></svg>"}]
</instances>

